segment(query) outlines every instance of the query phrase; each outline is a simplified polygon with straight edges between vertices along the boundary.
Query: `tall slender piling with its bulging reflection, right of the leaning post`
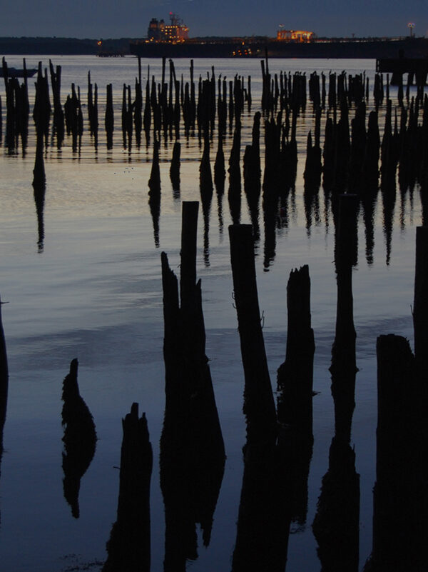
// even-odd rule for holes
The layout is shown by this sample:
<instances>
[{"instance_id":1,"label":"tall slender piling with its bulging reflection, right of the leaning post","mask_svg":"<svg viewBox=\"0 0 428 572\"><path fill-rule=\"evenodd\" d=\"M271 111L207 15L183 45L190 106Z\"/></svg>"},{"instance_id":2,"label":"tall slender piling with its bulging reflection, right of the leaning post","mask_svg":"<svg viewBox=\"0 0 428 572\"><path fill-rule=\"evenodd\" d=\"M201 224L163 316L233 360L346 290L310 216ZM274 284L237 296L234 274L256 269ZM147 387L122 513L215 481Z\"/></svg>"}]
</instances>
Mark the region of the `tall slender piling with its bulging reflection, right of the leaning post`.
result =
<instances>
[{"instance_id":1,"label":"tall slender piling with its bulging reflection, right of the leaning post","mask_svg":"<svg viewBox=\"0 0 428 572\"><path fill-rule=\"evenodd\" d=\"M357 264L357 196L341 195L335 240L337 313L332 346L332 397L335 436L329 468L322 478L312 530L318 543L322 570L357 572L359 565L360 476L350 446L355 408L355 326L352 266Z\"/></svg>"}]
</instances>

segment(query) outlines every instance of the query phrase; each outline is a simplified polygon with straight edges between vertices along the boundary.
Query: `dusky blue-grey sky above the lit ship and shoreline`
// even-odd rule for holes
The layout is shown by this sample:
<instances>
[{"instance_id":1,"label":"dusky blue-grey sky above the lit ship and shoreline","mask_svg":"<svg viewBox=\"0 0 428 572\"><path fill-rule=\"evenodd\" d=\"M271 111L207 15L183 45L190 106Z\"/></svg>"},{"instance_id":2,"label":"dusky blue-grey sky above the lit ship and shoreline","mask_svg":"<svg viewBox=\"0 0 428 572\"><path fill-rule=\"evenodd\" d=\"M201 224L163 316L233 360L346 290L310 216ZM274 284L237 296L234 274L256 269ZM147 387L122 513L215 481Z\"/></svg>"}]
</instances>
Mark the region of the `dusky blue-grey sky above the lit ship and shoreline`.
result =
<instances>
[{"instance_id":1,"label":"dusky blue-grey sky above the lit ship and shoreline","mask_svg":"<svg viewBox=\"0 0 428 572\"><path fill-rule=\"evenodd\" d=\"M1 0L0 36L138 38L151 18L178 14L192 36L275 36L307 29L318 36L428 34L426 0Z\"/></svg>"}]
</instances>

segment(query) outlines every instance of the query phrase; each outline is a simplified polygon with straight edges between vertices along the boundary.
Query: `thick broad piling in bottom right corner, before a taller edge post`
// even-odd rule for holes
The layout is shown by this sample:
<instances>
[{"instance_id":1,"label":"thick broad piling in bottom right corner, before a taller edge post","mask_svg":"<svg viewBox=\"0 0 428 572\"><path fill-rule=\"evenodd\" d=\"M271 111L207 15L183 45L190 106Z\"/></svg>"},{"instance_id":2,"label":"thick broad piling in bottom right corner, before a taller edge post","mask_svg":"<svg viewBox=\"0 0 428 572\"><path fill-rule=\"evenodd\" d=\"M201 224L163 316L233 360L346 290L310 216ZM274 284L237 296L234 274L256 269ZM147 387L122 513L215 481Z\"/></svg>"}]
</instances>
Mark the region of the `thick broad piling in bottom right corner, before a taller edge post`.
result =
<instances>
[{"instance_id":1,"label":"thick broad piling in bottom right corner, before a taller edge post","mask_svg":"<svg viewBox=\"0 0 428 572\"><path fill-rule=\"evenodd\" d=\"M425 381L415 372L405 338L377 338L377 460L367 572L428 566Z\"/></svg>"}]
</instances>

